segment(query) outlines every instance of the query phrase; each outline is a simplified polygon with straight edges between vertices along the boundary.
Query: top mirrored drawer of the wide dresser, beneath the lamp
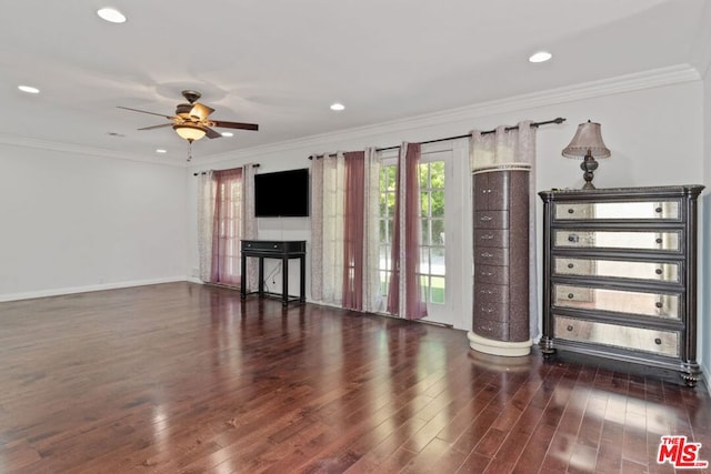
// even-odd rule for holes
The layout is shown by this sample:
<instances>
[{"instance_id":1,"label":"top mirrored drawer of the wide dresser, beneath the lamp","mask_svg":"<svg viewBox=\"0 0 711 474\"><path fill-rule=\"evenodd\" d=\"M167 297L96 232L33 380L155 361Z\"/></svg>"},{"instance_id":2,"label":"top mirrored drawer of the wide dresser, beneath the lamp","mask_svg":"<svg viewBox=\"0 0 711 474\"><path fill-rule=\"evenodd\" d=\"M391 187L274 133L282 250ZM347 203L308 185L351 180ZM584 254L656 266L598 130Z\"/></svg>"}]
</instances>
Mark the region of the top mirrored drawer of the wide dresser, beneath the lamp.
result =
<instances>
[{"instance_id":1,"label":"top mirrored drawer of the wide dresser, beneath the lamp","mask_svg":"<svg viewBox=\"0 0 711 474\"><path fill-rule=\"evenodd\" d=\"M579 220L668 220L681 219L680 202L560 202L553 203L553 219L559 221Z\"/></svg>"}]
</instances>

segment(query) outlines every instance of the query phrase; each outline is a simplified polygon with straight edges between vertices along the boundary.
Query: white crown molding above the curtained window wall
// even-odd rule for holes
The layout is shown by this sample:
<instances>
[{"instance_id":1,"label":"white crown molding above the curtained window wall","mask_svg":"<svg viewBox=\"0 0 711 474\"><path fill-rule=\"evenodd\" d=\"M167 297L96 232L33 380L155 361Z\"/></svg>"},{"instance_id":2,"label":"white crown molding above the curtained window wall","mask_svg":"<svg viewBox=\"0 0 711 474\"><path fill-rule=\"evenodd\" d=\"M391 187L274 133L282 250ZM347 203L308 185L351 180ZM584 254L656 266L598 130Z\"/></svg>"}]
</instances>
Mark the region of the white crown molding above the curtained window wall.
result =
<instances>
[{"instance_id":1,"label":"white crown molding above the curtained window wall","mask_svg":"<svg viewBox=\"0 0 711 474\"><path fill-rule=\"evenodd\" d=\"M200 159L200 164L214 164L224 161L249 160L254 155L282 153L294 148L323 152L323 148L339 142L371 139L383 133L403 132L448 123L461 122L500 113L527 110L558 103L573 102L617 93L659 88L684 82L700 81L701 74L690 64L677 64L644 72L619 75L597 81L582 82L574 85L550 89L541 92L513 95L505 99L480 102L461 108L443 110L434 113L414 115L407 119L392 120L371 125L346 129L336 132L320 133L301 139L236 150L229 153L214 154ZM462 131L465 133L467 131ZM373 143L372 145L387 145ZM329 152L332 150L326 150Z\"/></svg>"}]
</instances>

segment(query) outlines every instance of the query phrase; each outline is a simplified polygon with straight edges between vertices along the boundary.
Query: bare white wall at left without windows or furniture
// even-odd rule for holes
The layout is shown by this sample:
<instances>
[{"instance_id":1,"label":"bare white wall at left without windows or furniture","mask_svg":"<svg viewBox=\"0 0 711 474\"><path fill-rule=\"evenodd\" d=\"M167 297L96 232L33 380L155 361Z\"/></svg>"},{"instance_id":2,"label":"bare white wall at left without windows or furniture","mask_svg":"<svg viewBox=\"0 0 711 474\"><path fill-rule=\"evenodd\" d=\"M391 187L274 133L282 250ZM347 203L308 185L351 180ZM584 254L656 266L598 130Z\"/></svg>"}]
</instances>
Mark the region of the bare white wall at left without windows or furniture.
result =
<instances>
[{"instance_id":1,"label":"bare white wall at left without windows or furniture","mask_svg":"<svg viewBox=\"0 0 711 474\"><path fill-rule=\"evenodd\" d=\"M184 280L183 168L0 144L0 300Z\"/></svg>"}]
</instances>

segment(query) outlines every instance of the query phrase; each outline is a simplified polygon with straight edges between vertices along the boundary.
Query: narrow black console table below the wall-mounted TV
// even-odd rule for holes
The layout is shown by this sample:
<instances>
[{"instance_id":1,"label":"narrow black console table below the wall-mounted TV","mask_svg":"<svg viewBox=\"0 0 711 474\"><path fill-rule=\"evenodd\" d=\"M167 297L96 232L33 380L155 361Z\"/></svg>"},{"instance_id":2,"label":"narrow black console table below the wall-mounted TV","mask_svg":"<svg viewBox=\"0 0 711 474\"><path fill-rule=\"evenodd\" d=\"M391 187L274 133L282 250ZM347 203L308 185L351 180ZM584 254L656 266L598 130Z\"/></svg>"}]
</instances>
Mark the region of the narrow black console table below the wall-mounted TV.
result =
<instances>
[{"instance_id":1,"label":"narrow black console table below the wall-mounted TV","mask_svg":"<svg viewBox=\"0 0 711 474\"><path fill-rule=\"evenodd\" d=\"M281 269L281 303L286 306L291 301L299 301L301 303L307 301L307 286L306 286L306 256L307 256L307 242L300 241L270 241L270 240L243 240L242 241L242 284L240 290L240 296L242 300L248 294L274 295L277 293L264 292L264 259L279 259L282 263ZM256 292L247 292L247 259L253 256L259 259L259 289ZM289 295L289 260L299 259L299 296ZM278 295L278 294L277 294Z\"/></svg>"}]
</instances>

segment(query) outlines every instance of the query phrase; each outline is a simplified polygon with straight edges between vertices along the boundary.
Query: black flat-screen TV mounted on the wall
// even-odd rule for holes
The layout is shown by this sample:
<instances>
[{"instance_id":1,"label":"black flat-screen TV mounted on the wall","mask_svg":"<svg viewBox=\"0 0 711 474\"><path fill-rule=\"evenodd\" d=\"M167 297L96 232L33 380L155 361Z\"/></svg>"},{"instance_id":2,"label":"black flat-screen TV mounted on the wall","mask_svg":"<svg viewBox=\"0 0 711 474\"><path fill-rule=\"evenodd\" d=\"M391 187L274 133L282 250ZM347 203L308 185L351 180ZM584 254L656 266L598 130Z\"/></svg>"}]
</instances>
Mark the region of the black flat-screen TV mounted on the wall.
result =
<instances>
[{"instance_id":1,"label":"black flat-screen TV mounted on the wall","mask_svg":"<svg viewBox=\"0 0 711 474\"><path fill-rule=\"evenodd\" d=\"M306 218L310 194L308 168L254 174L254 215Z\"/></svg>"}]
</instances>

